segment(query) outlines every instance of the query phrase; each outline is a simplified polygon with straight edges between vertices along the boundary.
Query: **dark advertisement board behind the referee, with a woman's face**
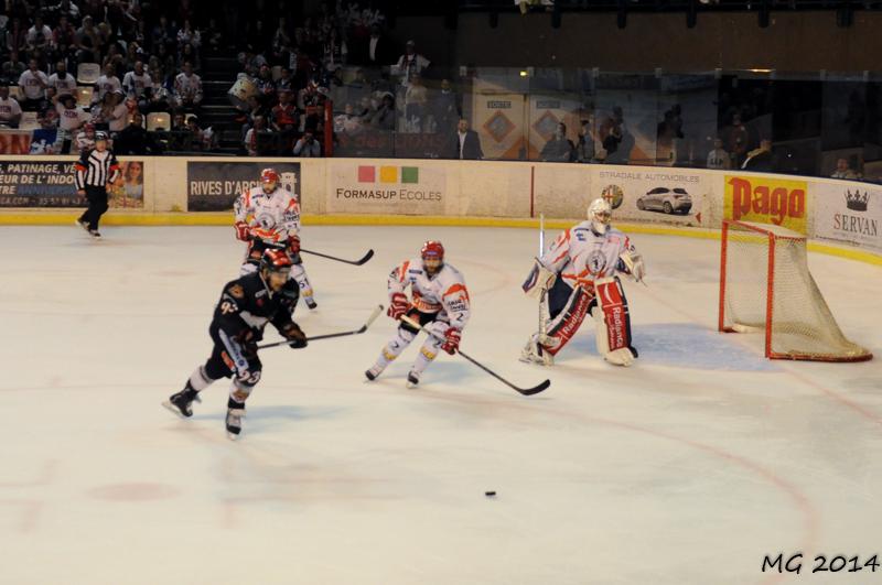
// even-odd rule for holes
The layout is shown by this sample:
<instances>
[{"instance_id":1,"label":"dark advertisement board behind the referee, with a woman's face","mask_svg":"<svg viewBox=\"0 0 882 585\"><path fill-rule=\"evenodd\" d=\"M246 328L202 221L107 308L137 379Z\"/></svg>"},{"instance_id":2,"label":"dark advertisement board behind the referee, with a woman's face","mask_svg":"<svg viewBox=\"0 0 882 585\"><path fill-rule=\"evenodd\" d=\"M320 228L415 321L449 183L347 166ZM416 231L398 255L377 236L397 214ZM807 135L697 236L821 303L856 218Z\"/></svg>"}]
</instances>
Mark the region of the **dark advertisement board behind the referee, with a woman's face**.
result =
<instances>
[{"instance_id":1,"label":"dark advertisement board behind the referee, with a woman's face","mask_svg":"<svg viewBox=\"0 0 882 585\"><path fill-rule=\"evenodd\" d=\"M108 185L110 207L143 207L143 161L120 162L121 173ZM76 194L72 159L0 162L0 207L86 207Z\"/></svg>"}]
</instances>

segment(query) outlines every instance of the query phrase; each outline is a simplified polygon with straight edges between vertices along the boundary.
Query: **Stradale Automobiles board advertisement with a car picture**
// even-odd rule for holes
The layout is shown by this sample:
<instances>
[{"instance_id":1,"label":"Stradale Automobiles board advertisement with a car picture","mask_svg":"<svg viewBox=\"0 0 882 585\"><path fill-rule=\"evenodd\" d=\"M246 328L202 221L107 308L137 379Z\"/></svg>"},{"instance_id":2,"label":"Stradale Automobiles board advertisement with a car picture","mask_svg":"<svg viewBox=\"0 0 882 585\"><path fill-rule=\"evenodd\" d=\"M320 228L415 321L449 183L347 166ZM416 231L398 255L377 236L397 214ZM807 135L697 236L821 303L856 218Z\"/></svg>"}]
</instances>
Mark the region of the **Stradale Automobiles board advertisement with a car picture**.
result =
<instances>
[{"instance_id":1,"label":"Stradale Automobiles board advertisement with a car picture","mask_svg":"<svg viewBox=\"0 0 882 585\"><path fill-rule=\"evenodd\" d=\"M686 169L609 169L592 166L591 192L613 207L613 219L711 227L713 176Z\"/></svg>"}]
</instances>

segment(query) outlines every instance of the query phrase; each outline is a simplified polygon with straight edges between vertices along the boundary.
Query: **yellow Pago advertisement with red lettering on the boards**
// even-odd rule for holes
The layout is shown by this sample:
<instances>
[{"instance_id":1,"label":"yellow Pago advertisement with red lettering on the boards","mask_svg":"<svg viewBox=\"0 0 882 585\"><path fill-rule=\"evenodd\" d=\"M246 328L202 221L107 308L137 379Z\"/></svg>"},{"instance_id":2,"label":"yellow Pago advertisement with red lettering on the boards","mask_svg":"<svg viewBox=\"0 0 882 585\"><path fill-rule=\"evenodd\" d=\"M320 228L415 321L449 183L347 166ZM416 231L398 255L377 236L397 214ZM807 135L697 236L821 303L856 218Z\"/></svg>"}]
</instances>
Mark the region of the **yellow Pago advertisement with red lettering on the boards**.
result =
<instances>
[{"instance_id":1,"label":"yellow Pago advertisement with red lettering on the boards","mask_svg":"<svg viewBox=\"0 0 882 585\"><path fill-rule=\"evenodd\" d=\"M763 175L725 175L723 217L807 232L808 184Z\"/></svg>"}]
</instances>

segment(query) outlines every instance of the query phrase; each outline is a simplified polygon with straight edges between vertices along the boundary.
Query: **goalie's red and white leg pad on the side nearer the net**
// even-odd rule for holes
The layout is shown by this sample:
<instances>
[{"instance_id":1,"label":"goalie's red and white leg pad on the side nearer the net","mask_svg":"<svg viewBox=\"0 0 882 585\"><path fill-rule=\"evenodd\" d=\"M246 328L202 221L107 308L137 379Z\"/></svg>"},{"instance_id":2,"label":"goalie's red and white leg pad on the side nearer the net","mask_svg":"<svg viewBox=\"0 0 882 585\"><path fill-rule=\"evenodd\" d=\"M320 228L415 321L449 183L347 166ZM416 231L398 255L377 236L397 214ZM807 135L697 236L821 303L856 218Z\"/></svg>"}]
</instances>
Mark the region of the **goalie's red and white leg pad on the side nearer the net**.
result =
<instances>
[{"instance_id":1,"label":"goalie's red and white leg pad on the side nearer the net","mask_svg":"<svg viewBox=\"0 0 882 585\"><path fill-rule=\"evenodd\" d=\"M637 350L631 345L631 315L622 283L617 277L600 279L594 281L594 290L598 351L610 364L631 366Z\"/></svg>"}]
</instances>

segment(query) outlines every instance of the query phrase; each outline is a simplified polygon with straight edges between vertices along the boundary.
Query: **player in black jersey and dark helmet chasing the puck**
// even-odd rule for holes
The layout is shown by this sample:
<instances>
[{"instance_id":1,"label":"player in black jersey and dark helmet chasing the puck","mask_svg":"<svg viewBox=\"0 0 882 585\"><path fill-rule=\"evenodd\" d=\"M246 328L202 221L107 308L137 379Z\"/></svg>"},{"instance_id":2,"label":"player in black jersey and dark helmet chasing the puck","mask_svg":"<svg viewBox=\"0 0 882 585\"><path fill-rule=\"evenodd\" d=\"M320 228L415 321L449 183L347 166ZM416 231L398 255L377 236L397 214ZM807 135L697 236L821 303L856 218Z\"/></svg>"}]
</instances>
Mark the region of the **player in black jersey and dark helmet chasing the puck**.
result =
<instances>
[{"instance_id":1,"label":"player in black jersey and dark helmet chasing the puck","mask_svg":"<svg viewBox=\"0 0 882 585\"><path fill-rule=\"evenodd\" d=\"M257 343L263 327L271 323L297 349L306 346L306 337L291 314L299 297L291 280L291 258L284 250L268 249L260 270L224 285L208 333L214 342L212 356L190 376L184 389L172 394L163 405L187 418L197 394L220 378L233 378L227 402L226 427L229 438L241 434L245 401L260 380L261 364Z\"/></svg>"}]
</instances>

